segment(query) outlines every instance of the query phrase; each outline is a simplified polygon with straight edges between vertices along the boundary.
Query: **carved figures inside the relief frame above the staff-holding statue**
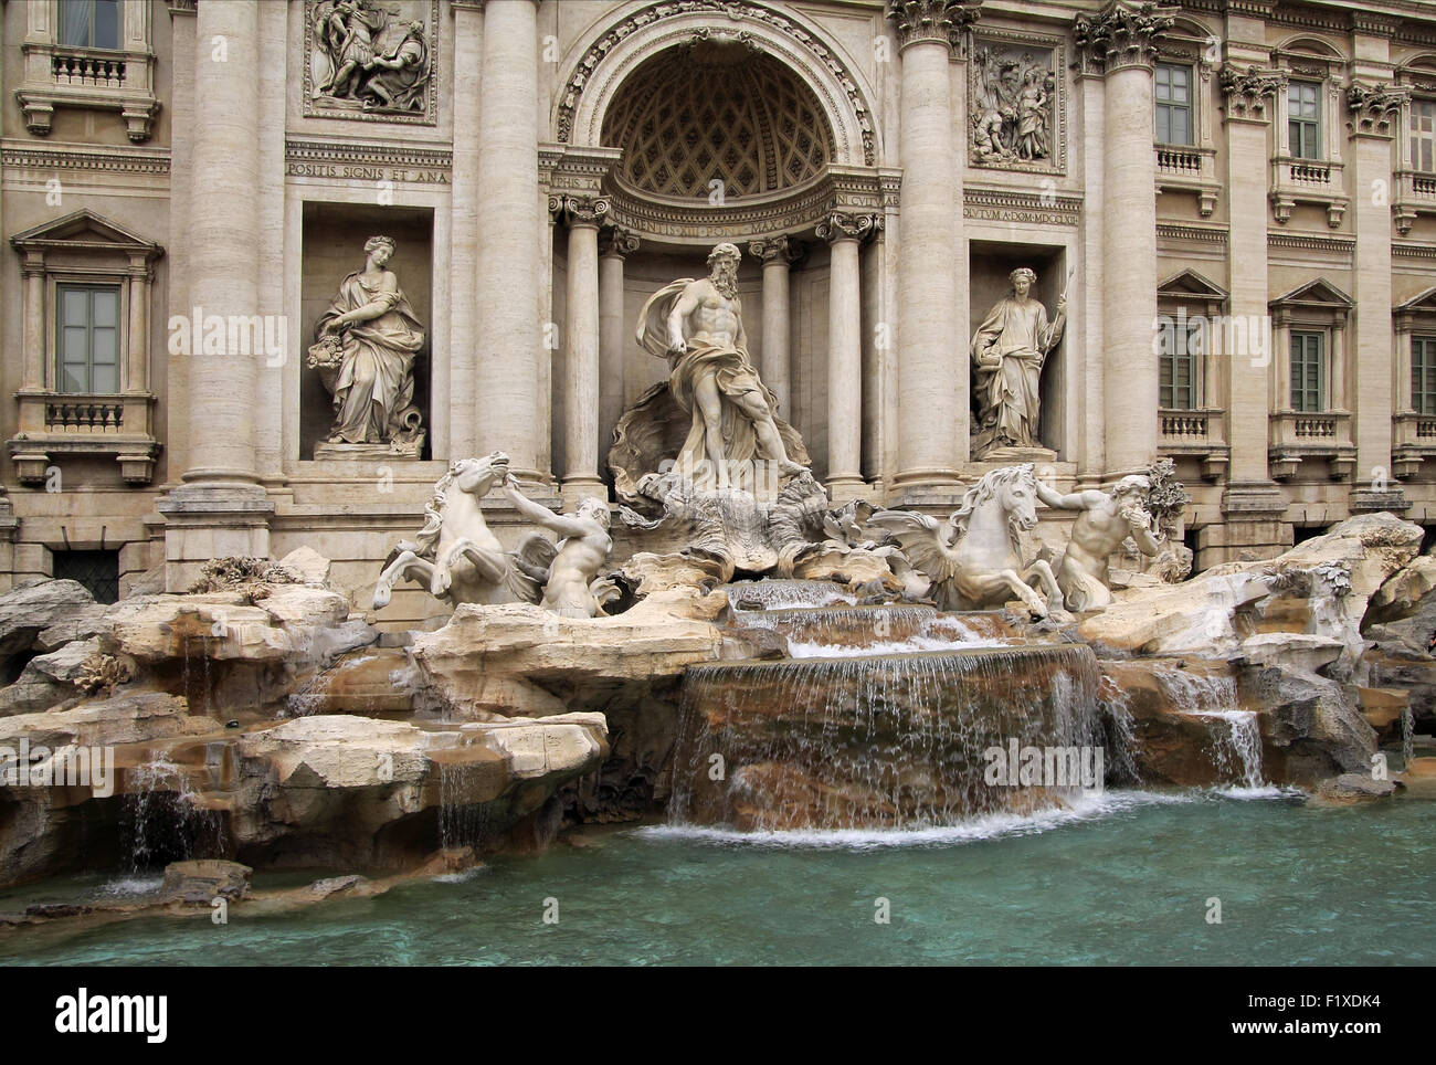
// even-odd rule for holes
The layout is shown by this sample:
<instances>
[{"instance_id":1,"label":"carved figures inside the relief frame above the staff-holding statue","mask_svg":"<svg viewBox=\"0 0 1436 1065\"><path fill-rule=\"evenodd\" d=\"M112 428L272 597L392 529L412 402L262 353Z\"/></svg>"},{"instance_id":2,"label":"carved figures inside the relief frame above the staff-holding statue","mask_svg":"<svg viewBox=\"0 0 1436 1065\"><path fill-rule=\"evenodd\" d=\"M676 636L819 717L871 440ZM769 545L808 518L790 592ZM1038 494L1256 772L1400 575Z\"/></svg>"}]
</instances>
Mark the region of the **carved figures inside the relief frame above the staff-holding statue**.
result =
<instances>
[{"instance_id":1,"label":"carved figures inside the relief frame above the staff-holding statue","mask_svg":"<svg viewBox=\"0 0 1436 1065\"><path fill-rule=\"evenodd\" d=\"M979 47L972 62L972 162L979 166L1051 166L1057 78L1051 53L1015 55Z\"/></svg>"}]
</instances>

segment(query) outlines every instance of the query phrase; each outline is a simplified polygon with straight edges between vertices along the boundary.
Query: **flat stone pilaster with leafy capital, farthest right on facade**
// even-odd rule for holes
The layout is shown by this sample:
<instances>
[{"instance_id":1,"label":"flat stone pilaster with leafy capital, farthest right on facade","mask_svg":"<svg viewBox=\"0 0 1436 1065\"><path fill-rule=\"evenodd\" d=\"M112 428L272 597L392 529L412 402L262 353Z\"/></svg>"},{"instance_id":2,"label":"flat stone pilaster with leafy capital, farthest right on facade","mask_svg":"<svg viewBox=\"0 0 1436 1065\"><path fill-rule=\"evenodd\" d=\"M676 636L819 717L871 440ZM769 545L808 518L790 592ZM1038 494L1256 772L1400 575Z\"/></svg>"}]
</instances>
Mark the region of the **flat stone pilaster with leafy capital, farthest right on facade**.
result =
<instances>
[{"instance_id":1,"label":"flat stone pilaster with leafy capital, farthest right on facade","mask_svg":"<svg viewBox=\"0 0 1436 1065\"><path fill-rule=\"evenodd\" d=\"M1351 138L1351 189L1356 221L1356 478L1353 510L1404 510L1400 485L1391 481L1391 208L1389 197L1371 189L1391 188L1391 136L1399 132L1409 93L1390 86L1356 82L1347 90ZM1334 357L1334 355L1333 355Z\"/></svg>"}]
</instances>

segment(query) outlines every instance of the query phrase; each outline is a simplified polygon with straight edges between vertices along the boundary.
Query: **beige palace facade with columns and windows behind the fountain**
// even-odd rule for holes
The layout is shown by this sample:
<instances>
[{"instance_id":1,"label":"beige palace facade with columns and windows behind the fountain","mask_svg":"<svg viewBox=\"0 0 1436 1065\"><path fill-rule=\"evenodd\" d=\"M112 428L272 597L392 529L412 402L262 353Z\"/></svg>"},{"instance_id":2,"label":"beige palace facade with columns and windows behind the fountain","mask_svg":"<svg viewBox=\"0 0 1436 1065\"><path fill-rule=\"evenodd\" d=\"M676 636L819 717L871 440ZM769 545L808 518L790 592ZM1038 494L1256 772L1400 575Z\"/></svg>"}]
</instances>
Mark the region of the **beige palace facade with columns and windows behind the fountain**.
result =
<instances>
[{"instance_id":1,"label":"beige palace facade with columns and windows behind the fountain","mask_svg":"<svg viewBox=\"0 0 1436 1065\"><path fill-rule=\"evenodd\" d=\"M1202 567L1436 524L1427 0L9 0L0 65L0 583L307 544L363 606L451 459L609 495L719 241L834 501L1170 456ZM316 326L381 245L412 380L355 444ZM1064 322L994 448L1020 267Z\"/></svg>"}]
</instances>

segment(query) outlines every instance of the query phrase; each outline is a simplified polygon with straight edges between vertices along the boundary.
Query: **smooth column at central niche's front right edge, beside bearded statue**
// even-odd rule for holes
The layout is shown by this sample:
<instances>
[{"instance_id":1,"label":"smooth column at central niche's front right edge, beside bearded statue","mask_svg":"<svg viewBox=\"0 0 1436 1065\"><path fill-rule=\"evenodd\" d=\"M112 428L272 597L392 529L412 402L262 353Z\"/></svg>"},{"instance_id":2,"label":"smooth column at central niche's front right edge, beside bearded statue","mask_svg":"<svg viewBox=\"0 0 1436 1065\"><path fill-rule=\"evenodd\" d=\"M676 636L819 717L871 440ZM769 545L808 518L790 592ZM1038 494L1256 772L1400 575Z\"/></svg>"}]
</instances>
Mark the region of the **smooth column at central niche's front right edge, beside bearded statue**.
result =
<instances>
[{"instance_id":1,"label":"smooth column at central niche's front right edge, beside bearded statue","mask_svg":"<svg viewBox=\"0 0 1436 1065\"><path fill-rule=\"evenodd\" d=\"M827 288L827 488L834 502L863 491L863 294L859 247L877 215L833 212L817 227L831 245Z\"/></svg>"}]
</instances>

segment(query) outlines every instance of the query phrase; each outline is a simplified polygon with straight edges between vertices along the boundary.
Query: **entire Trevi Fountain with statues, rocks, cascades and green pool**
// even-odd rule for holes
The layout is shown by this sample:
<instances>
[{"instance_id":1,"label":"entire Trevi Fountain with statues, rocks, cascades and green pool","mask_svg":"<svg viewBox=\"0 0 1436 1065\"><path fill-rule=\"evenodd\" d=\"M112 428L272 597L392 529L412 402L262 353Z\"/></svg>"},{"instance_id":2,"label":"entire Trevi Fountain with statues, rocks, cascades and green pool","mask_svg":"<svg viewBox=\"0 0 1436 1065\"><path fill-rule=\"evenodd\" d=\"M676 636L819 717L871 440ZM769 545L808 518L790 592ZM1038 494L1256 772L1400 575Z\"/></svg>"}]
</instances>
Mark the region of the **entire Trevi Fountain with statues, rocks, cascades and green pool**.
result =
<instances>
[{"instance_id":1,"label":"entire Trevi Fountain with statues, rocks, cascades and green pool","mask_svg":"<svg viewBox=\"0 0 1436 1065\"><path fill-rule=\"evenodd\" d=\"M314 324L329 449L422 439L424 324L392 251L369 240ZM1367 903L1420 861L1422 528L1361 515L1193 574L1170 462L1058 491L1034 432L1066 296L1048 314L1027 268L971 342L987 472L949 514L836 504L748 356L740 257L718 244L632 323L668 370L617 423L616 504L551 510L495 451L449 464L360 609L319 537L215 558L180 594L0 597L0 950L1432 960L1429 939L1360 946L1334 920L1301 947L1264 932L1302 904L1301 848ZM505 548L494 499L541 531ZM1070 517L1066 543L1032 535L1045 510ZM452 616L373 627L362 607L405 586ZM1038 917L1024 900L1053 877ZM1203 921L1222 896L1226 936ZM925 937L854 932L875 899ZM223 947L190 932L215 907ZM454 914L454 934L425 932ZM1031 921L1093 934L1040 947Z\"/></svg>"}]
</instances>

